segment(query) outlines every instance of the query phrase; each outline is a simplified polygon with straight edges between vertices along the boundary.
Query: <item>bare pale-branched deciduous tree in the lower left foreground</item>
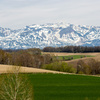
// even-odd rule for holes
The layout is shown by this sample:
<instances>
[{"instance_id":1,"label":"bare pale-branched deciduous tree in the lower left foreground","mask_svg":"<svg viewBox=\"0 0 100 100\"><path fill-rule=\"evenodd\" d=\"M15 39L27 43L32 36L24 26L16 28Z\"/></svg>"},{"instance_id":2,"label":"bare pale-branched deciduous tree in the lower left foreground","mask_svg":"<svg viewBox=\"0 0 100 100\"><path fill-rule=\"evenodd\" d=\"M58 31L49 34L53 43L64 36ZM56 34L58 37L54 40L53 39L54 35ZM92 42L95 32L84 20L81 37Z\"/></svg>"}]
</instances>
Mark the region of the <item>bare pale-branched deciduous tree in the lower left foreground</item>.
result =
<instances>
[{"instance_id":1,"label":"bare pale-branched deciduous tree in the lower left foreground","mask_svg":"<svg viewBox=\"0 0 100 100\"><path fill-rule=\"evenodd\" d=\"M0 100L33 100L32 88L28 81L14 68L10 74L2 75Z\"/></svg>"}]
</instances>

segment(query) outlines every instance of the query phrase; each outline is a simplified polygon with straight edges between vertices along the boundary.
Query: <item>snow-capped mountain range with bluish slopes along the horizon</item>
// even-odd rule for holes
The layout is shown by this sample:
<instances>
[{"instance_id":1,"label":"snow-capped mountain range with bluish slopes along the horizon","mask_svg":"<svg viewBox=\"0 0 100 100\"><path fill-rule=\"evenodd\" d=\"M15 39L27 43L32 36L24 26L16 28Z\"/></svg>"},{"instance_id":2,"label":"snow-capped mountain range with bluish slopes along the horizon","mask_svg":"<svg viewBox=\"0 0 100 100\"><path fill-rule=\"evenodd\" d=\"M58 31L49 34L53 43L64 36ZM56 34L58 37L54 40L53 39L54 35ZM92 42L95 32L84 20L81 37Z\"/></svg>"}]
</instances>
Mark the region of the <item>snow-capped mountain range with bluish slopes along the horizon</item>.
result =
<instances>
[{"instance_id":1,"label":"snow-capped mountain range with bluish slopes along the horizon","mask_svg":"<svg viewBox=\"0 0 100 100\"><path fill-rule=\"evenodd\" d=\"M27 49L67 45L100 46L100 27L48 23L18 30L0 27L0 48Z\"/></svg>"}]
</instances>

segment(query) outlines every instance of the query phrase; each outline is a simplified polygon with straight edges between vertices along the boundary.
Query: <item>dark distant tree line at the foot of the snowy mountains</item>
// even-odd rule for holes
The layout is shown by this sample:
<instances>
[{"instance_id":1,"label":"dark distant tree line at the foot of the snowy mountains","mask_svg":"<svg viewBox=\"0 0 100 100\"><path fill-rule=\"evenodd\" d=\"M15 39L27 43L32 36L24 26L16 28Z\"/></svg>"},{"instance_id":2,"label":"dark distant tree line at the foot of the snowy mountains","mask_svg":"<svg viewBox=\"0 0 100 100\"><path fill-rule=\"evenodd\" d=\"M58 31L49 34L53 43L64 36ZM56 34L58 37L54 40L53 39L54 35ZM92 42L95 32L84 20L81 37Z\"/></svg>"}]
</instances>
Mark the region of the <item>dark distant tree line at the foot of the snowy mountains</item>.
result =
<instances>
[{"instance_id":1,"label":"dark distant tree line at the foot of the snowy mountains","mask_svg":"<svg viewBox=\"0 0 100 100\"><path fill-rule=\"evenodd\" d=\"M45 47L43 52L69 52L69 53L88 53L100 52L100 46L64 46L64 47Z\"/></svg>"}]
</instances>

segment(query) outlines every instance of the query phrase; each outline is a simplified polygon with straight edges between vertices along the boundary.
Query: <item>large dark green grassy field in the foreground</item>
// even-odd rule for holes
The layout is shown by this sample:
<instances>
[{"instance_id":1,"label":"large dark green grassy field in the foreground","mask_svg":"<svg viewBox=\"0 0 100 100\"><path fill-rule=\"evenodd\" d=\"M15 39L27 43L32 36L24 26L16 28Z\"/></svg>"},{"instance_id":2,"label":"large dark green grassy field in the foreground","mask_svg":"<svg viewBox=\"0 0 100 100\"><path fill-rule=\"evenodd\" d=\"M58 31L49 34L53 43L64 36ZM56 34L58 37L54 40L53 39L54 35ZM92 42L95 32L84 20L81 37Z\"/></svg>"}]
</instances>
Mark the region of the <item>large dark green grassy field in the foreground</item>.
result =
<instances>
[{"instance_id":1,"label":"large dark green grassy field in the foreground","mask_svg":"<svg viewBox=\"0 0 100 100\"><path fill-rule=\"evenodd\" d=\"M34 100L100 100L100 77L66 74L25 74Z\"/></svg>"}]
</instances>

